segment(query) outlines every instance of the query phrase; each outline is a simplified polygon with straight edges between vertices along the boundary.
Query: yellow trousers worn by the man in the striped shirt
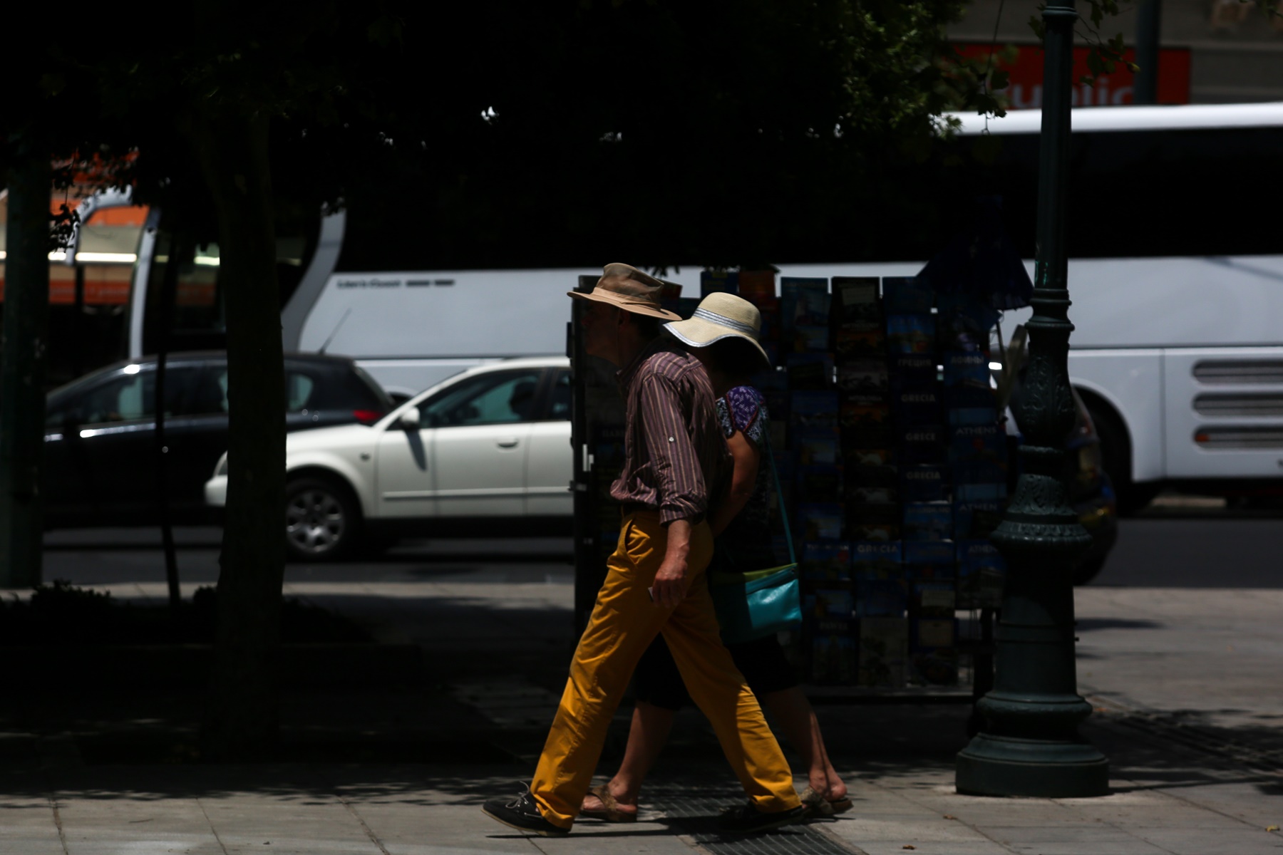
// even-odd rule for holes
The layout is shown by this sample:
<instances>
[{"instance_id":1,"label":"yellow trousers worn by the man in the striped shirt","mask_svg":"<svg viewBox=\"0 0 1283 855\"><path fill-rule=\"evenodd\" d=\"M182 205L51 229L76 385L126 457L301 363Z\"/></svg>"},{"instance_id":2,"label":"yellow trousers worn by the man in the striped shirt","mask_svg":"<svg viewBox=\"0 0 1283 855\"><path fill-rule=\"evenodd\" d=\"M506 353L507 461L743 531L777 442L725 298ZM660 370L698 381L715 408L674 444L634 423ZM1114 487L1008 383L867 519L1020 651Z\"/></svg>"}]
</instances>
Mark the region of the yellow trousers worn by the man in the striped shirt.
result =
<instances>
[{"instance_id":1,"label":"yellow trousers worn by the man in the striped shirt","mask_svg":"<svg viewBox=\"0 0 1283 855\"><path fill-rule=\"evenodd\" d=\"M754 806L776 813L801 804L779 742L721 642L704 573L713 550L708 523L692 531L690 587L672 609L654 605L647 594L666 547L667 529L657 513L624 518L618 546L607 561L606 582L575 650L566 692L530 784L544 819L561 828L570 828L579 815L615 709L638 660L661 632L686 691L708 717Z\"/></svg>"}]
</instances>

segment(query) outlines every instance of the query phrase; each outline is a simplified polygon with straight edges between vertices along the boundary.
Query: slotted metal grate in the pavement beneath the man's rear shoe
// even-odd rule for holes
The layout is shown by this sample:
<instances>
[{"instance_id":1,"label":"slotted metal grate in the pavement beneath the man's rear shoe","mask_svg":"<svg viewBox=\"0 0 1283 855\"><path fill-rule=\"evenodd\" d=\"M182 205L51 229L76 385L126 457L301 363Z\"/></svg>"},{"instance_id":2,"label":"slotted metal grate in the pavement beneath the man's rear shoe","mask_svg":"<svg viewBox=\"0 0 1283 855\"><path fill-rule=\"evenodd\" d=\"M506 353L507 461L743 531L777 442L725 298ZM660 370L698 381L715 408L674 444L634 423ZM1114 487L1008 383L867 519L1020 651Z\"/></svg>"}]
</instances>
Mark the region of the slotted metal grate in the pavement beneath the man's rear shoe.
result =
<instances>
[{"instance_id":1,"label":"slotted metal grate in the pavement beneath the man's rear shoe","mask_svg":"<svg viewBox=\"0 0 1283 855\"><path fill-rule=\"evenodd\" d=\"M650 805L712 855L863 855L863 850L843 845L807 824L763 834L721 833L718 814L744 801L744 791L738 783L648 784L648 790Z\"/></svg>"}]
</instances>

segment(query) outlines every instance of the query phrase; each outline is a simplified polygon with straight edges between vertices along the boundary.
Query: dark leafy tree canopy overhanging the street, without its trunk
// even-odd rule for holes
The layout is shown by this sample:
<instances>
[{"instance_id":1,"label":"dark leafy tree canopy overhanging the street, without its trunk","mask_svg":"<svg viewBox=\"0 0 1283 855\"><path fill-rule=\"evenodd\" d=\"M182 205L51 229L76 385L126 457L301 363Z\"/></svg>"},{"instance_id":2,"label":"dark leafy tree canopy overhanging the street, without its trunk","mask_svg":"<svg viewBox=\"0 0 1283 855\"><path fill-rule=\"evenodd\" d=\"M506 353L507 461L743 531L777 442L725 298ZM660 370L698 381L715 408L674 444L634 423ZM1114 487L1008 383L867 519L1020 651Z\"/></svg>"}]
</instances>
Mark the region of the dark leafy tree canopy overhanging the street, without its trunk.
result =
<instances>
[{"instance_id":1,"label":"dark leafy tree canopy overhanging the street, without its trunk","mask_svg":"<svg viewBox=\"0 0 1283 855\"><path fill-rule=\"evenodd\" d=\"M164 38L40 46L14 115L137 150L118 181L205 229L187 141L237 113L269 122L277 206L412 222L427 265L852 258L931 117L988 104L944 40L964 5L198 3Z\"/></svg>"}]
</instances>

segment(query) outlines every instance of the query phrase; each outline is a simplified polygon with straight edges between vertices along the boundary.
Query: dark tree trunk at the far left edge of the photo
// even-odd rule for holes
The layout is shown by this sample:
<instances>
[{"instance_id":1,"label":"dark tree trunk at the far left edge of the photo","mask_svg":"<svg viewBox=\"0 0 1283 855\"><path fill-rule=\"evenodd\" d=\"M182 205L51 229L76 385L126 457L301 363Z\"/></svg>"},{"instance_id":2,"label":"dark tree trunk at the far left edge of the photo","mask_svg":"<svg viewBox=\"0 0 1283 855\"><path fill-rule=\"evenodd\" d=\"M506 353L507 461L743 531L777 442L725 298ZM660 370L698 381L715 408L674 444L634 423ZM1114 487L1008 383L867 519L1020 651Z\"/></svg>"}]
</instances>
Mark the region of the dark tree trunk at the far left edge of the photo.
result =
<instances>
[{"instance_id":1,"label":"dark tree trunk at the far left edge of the photo","mask_svg":"<svg viewBox=\"0 0 1283 855\"><path fill-rule=\"evenodd\" d=\"M0 345L0 587L40 585L45 346L49 327L49 151L30 142L9 167L4 341Z\"/></svg>"}]
</instances>

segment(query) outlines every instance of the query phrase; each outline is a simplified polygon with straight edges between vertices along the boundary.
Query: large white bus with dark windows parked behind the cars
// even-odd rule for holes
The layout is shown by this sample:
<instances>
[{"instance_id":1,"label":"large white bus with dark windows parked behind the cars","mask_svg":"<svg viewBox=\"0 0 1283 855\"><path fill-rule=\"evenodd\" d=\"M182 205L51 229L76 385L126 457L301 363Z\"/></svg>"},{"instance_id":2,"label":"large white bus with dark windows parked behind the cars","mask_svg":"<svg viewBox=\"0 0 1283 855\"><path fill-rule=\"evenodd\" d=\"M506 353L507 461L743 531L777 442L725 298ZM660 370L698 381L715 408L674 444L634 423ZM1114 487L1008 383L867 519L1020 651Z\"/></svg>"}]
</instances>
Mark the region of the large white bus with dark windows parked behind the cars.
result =
<instances>
[{"instance_id":1,"label":"large white bus with dark windows parked behind the cars","mask_svg":"<svg viewBox=\"0 0 1283 855\"><path fill-rule=\"evenodd\" d=\"M937 156L906 173L903 192L920 200L922 219L903 233L920 227L916 237L940 241L948 209L961 222L971 196L1001 195L1032 276L1041 115L958 118L953 160L985 129L1001 142L997 155L952 167ZM1139 506L1164 485L1283 490L1283 232L1271 214L1283 199L1283 104L1075 109L1073 128L1069 368L1120 504ZM484 361L566 353L563 294L599 268L412 269L417 256L387 251L386 238L376 246L359 213L282 228L287 350L353 356L403 396ZM130 356L154 350L158 313L148 309L158 305L167 242L163 228L141 242ZM217 249L178 255L171 346L221 346ZM911 276L930 250L890 240L860 255L779 267L781 276ZM670 278L698 295L698 267ZM1029 317L1007 314L1007 335Z\"/></svg>"}]
</instances>

